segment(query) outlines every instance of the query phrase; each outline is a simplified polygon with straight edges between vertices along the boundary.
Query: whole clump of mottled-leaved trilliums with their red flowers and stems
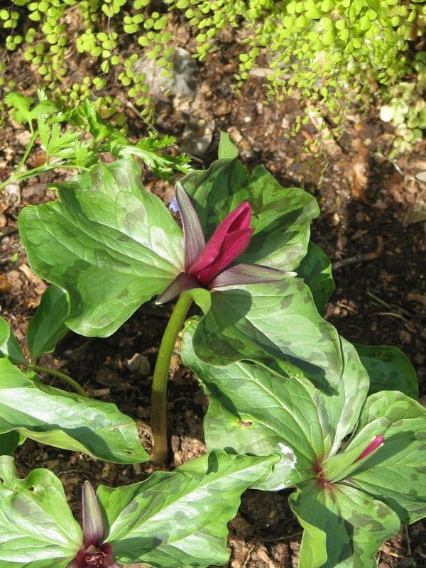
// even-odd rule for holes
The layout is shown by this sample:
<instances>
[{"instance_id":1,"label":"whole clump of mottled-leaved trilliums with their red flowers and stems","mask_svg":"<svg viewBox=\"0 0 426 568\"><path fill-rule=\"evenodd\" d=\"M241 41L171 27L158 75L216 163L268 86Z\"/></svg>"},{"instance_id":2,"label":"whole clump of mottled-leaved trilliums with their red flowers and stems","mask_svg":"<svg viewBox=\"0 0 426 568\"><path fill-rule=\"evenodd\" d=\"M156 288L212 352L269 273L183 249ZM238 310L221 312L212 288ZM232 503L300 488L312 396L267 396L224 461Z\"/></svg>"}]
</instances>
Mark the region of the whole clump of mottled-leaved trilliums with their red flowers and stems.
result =
<instances>
[{"instance_id":1,"label":"whole clump of mottled-leaved trilliums with their red flowers and stems","mask_svg":"<svg viewBox=\"0 0 426 568\"><path fill-rule=\"evenodd\" d=\"M226 523L249 487L295 488L300 568L373 568L381 542L425 516L413 368L398 349L354 346L324 320L334 282L310 242L315 199L261 166L249 174L237 154L222 133L219 159L176 185L175 218L133 158L94 165L55 185L57 201L23 208L28 262L50 285L28 324L29 360L0 320L0 568L221 565ZM37 361L69 330L109 336L154 297L174 307L153 373L152 459L168 463L167 381L182 329L182 363L209 396L207 454L131 486L95 492L85 481L81 529L50 471L18 478L18 444L117 464L150 456L131 417ZM75 393L45 386L40 372Z\"/></svg>"}]
</instances>

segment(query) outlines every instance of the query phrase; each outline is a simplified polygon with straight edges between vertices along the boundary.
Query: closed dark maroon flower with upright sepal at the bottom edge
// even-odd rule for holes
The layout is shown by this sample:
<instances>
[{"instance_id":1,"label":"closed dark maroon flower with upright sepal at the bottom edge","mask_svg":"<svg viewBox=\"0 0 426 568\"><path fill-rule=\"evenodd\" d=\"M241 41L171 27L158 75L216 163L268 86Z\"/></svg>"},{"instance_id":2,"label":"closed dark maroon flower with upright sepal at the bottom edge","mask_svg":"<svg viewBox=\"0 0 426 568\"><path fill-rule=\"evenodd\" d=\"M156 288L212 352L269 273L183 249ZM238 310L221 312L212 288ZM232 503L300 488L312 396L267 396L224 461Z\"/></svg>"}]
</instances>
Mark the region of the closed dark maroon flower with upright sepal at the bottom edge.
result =
<instances>
[{"instance_id":1,"label":"closed dark maroon flower with upright sepal at the bottom edge","mask_svg":"<svg viewBox=\"0 0 426 568\"><path fill-rule=\"evenodd\" d=\"M84 481L82 491L83 542L67 568L120 568L112 557L112 547L102 542L104 521L94 488Z\"/></svg>"}]
</instances>

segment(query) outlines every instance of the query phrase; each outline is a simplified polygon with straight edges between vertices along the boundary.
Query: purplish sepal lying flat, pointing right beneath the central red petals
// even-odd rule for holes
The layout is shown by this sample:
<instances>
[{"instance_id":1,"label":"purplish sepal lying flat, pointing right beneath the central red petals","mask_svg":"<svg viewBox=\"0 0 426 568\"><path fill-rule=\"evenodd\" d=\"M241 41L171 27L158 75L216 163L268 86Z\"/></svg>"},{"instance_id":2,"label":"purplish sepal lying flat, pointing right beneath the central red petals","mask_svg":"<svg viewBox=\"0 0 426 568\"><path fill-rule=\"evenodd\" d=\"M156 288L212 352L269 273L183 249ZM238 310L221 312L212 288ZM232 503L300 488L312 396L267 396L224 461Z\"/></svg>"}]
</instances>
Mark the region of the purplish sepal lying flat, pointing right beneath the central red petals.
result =
<instances>
[{"instance_id":1,"label":"purplish sepal lying flat, pointing right beneath the central red petals","mask_svg":"<svg viewBox=\"0 0 426 568\"><path fill-rule=\"evenodd\" d=\"M239 263L226 271L221 272L213 278L209 283L209 290L219 288L220 286L238 285L238 284L265 284L268 282L276 282L284 280L290 276L295 276L295 272L277 271L274 268L266 266L257 266L256 264Z\"/></svg>"}]
</instances>

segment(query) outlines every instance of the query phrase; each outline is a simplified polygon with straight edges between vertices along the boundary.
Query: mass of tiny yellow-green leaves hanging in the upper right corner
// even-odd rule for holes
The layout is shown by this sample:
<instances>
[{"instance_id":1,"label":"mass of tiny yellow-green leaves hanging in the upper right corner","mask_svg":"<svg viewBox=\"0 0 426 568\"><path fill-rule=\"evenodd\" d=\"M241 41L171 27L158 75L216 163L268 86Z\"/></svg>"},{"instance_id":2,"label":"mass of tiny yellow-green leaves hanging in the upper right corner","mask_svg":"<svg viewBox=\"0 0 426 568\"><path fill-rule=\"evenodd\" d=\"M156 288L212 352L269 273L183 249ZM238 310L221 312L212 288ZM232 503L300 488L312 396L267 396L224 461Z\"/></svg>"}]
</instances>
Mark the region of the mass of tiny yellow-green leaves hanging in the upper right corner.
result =
<instances>
[{"instance_id":1,"label":"mass of tiny yellow-green leaves hanging in the upper right corner","mask_svg":"<svg viewBox=\"0 0 426 568\"><path fill-rule=\"evenodd\" d=\"M293 133L312 119L312 113L331 118L339 136L354 99L371 100L371 87L388 87L406 75L424 74L425 58L410 55L410 40L425 31L424 0L172 0L185 10L191 26L198 28L197 54L207 57L214 37L226 25L244 26L249 49L239 56L241 82L259 65L266 50L269 94L283 99L293 89L301 94L305 116L297 116ZM423 4L422 6L420 4ZM264 67L264 64L262 65ZM416 93L424 94L425 85ZM405 91L407 92L407 91ZM408 107L416 107L417 97ZM417 107L416 107L417 108ZM417 111L416 111L417 112ZM324 125L325 126L325 125ZM330 125L328 125L330 126ZM422 126L420 126L422 128ZM413 140L418 138L415 132ZM314 146L319 140L314 141Z\"/></svg>"}]
</instances>

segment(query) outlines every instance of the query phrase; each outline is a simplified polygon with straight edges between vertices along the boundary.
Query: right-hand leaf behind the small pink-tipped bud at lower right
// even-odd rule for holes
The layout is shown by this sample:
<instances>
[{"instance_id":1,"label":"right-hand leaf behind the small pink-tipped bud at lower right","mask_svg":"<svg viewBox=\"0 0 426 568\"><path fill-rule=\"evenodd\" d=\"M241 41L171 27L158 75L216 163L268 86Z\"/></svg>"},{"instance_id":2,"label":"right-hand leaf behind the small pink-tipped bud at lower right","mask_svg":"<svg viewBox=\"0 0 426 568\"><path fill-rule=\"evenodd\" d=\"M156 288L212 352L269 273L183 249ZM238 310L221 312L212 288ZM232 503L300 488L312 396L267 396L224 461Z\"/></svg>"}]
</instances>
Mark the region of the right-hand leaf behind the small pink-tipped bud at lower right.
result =
<instances>
[{"instance_id":1,"label":"right-hand leaf behind the small pink-tipped bud at lower right","mask_svg":"<svg viewBox=\"0 0 426 568\"><path fill-rule=\"evenodd\" d=\"M383 445L346 481L385 501L402 523L414 523L426 515L426 408L398 391L371 395L345 451L377 435Z\"/></svg>"}]
</instances>

